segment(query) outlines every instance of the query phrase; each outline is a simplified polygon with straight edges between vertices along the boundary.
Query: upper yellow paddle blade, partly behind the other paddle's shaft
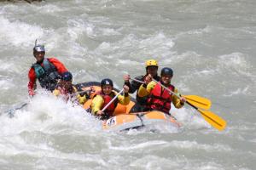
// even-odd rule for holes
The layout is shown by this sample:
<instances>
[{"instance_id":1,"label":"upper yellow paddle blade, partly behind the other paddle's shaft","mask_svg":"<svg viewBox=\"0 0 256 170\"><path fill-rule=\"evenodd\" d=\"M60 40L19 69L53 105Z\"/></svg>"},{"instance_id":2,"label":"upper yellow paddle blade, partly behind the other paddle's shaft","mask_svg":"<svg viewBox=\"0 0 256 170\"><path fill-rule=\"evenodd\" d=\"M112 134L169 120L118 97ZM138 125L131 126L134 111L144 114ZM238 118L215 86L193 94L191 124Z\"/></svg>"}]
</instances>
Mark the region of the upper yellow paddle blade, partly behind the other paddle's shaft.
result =
<instances>
[{"instance_id":1,"label":"upper yellow paddle blade, partly behind the other paddle's shaft","mask_svg":"<svg viewBox=\"0 0 256 170\"><path fill-rule=\"evenodd\" d=\"M212 102L210 99L202 98L197 95L184 95L183 96L190 104L195 105L204 110L210 109Z\"/></svg>"}]
</instances>

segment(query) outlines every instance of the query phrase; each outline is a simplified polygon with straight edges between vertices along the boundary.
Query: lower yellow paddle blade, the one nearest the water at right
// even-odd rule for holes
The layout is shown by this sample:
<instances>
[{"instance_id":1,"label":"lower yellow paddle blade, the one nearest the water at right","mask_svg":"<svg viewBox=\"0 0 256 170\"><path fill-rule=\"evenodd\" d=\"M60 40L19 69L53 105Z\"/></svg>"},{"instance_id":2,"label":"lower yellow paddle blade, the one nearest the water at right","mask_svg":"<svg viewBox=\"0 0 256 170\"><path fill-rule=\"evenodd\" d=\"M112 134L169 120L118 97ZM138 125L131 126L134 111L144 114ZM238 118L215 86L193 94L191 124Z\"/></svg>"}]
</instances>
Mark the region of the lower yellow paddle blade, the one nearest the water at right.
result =
<instances>
[{"instance_id":1,"label":"lower yellow paddle blade, the one nearest the water at right","mask_svg":"<svg viewBox=\"0 0 256 170\"><path fill-rule=\"evenodd\" d=\"M211 111L201 111L200 109L198 109L197 111L201 113L201 115L208 123L212 125L212 127L217 128L219 131L224 130L224 128L226 127L226 122L224 121L224 119L215 115Z\"/></svg>"}]
</instances>

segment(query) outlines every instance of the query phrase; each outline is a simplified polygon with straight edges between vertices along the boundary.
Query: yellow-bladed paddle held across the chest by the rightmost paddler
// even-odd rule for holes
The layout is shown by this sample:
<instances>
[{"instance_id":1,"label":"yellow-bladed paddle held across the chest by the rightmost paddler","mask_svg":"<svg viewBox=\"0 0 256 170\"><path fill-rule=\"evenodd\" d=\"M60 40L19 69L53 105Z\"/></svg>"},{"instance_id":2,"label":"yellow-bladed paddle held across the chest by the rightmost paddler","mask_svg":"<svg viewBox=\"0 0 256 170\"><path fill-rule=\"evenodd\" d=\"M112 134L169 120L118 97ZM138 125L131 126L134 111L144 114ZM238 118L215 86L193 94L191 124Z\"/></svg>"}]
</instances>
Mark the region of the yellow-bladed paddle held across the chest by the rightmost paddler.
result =
<instances>
[{"instance_id":1,"label":"yellow-bladed paddle held across the chest by the rightmost paddler","mask_svg":"<svg viewBox=\"0 0 256 170\"><path fill-rule=\"evenodd\" d=\"M154 80L154 78L153 78L153 81L157 82L156 80ZM162 85L162 84L160 84L160 85L161 85L161 87L166 88L164 85ZM166 89L168 89L168 88L166 88ZM180 96L178 96L171 90L168 89L168 91L170 91L172 94L174 94L178 98L180 98ZM201 115L204 117L204 119L212 125L212 127L217 128L219 131L224 130L224 127L226 127L226 122L221 117L215 115L211 111L202 111L201 109L197 108L195 105L192 105L191 103L189 103L189 101L186 101L186 103L188 105L192 106L196 111L199 111L201 113Z\"/></svg>"}]
</instances>

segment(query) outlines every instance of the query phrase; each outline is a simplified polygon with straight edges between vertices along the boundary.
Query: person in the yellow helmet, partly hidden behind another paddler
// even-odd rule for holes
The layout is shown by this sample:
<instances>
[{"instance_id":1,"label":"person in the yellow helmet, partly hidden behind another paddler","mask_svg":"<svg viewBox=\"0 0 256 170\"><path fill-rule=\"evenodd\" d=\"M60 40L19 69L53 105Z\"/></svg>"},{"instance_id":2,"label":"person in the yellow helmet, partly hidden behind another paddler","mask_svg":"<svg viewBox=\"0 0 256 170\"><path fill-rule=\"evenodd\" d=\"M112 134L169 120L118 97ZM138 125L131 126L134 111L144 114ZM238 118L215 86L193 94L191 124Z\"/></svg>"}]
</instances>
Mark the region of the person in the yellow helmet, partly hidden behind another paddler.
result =
<instances>
[{"instance_id":1,"label":"person in the yellow helmet, partly hidden behind another paddler","mask_svg":"<svg viewBox=\"0 0 256 170\"><path fill-rule=\"evenodd\" d=\"M160 77L157 75L158 71L158 63L154 59L148 59L145 63L146 66L146 74L144 76L135 77L138 81L144 82L145 79L149 77L153 77L155 80L160 81ZM133 94L135 91L138 93L138 89L142 85L140 82L129 81L131 79L130 75L125 75L125 85L129 87L129 93ZM137 103L131 109L131 112L139 112L146 110L146 104L148 101L148 96L140 97L138 94L136 95Z\"/></svg>"}]
</instances>

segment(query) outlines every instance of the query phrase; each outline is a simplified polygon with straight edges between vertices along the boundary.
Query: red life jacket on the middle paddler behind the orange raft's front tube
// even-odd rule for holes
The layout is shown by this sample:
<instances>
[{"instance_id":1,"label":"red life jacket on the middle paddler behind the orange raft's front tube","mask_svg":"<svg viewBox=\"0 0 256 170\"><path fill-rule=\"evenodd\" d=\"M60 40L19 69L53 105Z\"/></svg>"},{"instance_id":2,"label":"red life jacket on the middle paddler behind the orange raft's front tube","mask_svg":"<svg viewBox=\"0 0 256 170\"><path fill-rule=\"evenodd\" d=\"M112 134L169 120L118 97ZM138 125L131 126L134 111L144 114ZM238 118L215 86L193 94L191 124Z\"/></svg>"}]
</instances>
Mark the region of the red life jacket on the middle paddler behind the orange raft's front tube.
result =
<instances>
[{"instance_id":1,"label":"red life jacket on the middle paddler behind the orange raft's front tube","mask_svg":"<svg viewBox=\"0 0 256 170\"><path fill-rule=\"evenodd\" d=\"M111 101L111 99L113 99L114 94L113 92L111 92L111 94L107 95L107 94L103 94L102 92L99 93L99 95L102 96L103 100L104 100L104 104L102 106L102 108L104 108L106 105L108 105L108 103ZM111 105L108 105L108 108L104 111L105 113L108 114L108 116L113 116L113 111L115 109L115 107L118 104L118 99L115 99Z\"/></svg>"}]
</instances>

